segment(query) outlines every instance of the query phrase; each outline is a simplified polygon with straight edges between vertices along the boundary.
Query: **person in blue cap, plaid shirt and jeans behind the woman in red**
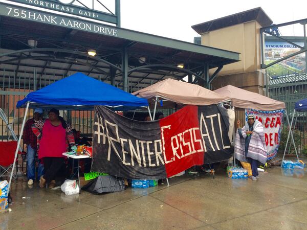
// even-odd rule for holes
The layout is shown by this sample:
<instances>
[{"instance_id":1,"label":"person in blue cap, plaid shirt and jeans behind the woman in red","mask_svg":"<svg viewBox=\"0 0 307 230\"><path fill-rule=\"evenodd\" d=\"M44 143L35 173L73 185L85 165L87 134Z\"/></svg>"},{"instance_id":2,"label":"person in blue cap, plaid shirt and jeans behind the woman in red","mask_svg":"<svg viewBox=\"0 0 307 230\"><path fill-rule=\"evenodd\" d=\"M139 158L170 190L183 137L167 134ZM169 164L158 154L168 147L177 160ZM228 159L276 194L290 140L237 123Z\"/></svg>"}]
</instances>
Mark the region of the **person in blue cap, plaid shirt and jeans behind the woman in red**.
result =
<instances>
[{"instance_id":1,"label":"person in blue cap, plaid shirt and jeans behind the woman in red","mask_svg":"<svg viewBox=\"0 0 307 230\"><path fill-rule=\"evenodd\" d=\"M23 133L24 144L27 146L27 177L28 177L28 185L33 185L35 180L35 156L36 156L36 145L37 145L37 137L33 133L32 125L35 122L42 120L42 109L36 108L33 113L33 118L29 119L25 124L25 129ZM43 165L38 164L38 172L37 172L37 181L39 181L40 176L43 174Z\"/></svg>"}]
</instances>

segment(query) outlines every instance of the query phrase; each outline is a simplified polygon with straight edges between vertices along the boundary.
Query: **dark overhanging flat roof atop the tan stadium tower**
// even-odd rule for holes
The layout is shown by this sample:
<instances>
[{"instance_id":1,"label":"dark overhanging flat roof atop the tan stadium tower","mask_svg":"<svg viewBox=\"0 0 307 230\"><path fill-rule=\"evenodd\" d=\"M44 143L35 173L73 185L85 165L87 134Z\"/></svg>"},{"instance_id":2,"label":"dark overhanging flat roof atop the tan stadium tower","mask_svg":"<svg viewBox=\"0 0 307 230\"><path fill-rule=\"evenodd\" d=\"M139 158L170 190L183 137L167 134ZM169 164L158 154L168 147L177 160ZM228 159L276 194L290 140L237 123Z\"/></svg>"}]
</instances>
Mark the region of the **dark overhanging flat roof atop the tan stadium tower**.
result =
<instances>
[{"instance_id":1,"label":"dark overhanging flat roof atop the tan stadium tower","mask_svg":"<svg viewBox=\"0 0 307 230\"><path fill-rule=\"evenodd\" d=\"M273 23L273 21L266 14L266 12L262 10L261 7L257 7L251 10L217 18L211 21L206 21L201 24L194 25L192 26L192 28L199 34L203 34L206 32L234 26L237 24L242 24L244 22L252 20L256 20L261 25L261 27L267 27Z\"/></svg>"}]
</instances>

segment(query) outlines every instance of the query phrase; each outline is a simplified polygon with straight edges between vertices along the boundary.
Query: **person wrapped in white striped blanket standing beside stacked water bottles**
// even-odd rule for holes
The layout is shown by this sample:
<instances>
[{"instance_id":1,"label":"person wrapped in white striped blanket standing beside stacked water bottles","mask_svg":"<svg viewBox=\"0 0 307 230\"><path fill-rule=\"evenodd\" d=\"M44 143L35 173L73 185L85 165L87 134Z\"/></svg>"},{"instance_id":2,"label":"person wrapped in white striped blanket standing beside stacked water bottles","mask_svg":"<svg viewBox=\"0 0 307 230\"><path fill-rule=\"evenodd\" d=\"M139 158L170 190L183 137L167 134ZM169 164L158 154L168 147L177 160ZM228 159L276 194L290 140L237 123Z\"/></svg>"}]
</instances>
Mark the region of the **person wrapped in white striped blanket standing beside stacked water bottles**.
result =
<instances>
[{"instance_id":1,"label":"person wrapped in white striped blanket standing beside stacked water bottles","mask_svg":"<svg viewBox=\"0 0 307 230\"><path fill-rule=\"evenodd\" d=\"M237 121L238 125L238 134L240 139L245 139L245 156L248 163L252 168L252 180L257 180L258 175L258 157L266 157L263 156L266 151L265 137L264 137L264 129L261 122L255 120L255 117L252 114L249 114L247 117L247 124L242 128L240 120ZM252 145L252 148L249 149L251 145L251 139L253 136L253 142L255 145ZM265 152L266 155L266 152ZM261 161L262 161L261 158ZM266 160L266 159L265 159Z\"/></svg>"}]
</instances>

